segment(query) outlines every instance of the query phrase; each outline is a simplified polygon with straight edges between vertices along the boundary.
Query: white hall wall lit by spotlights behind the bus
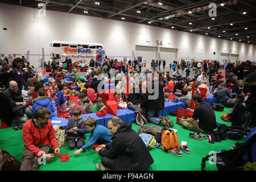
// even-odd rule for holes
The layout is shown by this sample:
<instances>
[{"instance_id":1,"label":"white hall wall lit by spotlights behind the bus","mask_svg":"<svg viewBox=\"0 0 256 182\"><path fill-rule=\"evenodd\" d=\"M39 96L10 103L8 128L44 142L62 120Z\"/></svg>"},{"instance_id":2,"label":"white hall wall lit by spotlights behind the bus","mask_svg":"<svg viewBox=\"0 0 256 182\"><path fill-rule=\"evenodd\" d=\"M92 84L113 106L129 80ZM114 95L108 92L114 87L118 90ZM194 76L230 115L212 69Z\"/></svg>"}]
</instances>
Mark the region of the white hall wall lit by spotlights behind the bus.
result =
<instances>
[{"instance_id":1,"label":"white hall wall lit by spotlights behind the bus","mask_svg":"<svg viewBox=\"0 0 256 182\"><path fill-rule=\"evenodd\" d=\"M7 31L3 30L4 27ZM102 43L106 54L118 59L123 56L130 59L136 45L156 47L156 40L159 40L162 47L177 49L177 59L216 60L220 59L220 53L229 53L232 49L242 61L256 60L256 46L253 44L57 11L47 10L46 17L38 17L38 9L0 3L0 53L21 56L30 50L31 63L38 65L42 47L46 60L49 59L47 55L52 40ZM150 61L147 60L147 64ZM166 64L171 61L166 59Z\"/></svg>"}]
</instances>

